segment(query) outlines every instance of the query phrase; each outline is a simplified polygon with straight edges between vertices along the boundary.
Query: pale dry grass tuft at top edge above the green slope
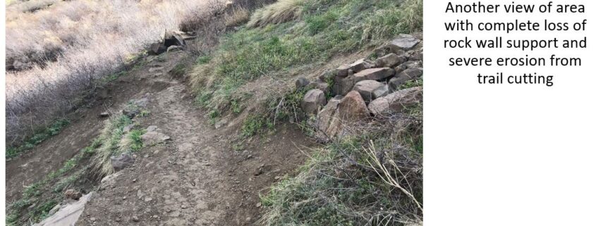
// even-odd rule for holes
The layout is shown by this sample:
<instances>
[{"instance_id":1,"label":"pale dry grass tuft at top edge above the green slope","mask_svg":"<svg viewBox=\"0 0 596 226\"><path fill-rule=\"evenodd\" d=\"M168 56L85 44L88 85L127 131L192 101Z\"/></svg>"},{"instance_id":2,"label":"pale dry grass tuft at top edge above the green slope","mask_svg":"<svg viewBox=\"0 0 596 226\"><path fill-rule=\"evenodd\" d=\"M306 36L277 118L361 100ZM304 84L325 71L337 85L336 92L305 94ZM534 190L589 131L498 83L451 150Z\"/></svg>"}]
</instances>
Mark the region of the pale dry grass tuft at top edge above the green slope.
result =
<instances>
[{"instance_id":1,"label":"pale dry grass tuft at top edge above the green slope","mask_svg":"<svg viewBox=\"0 0 596 226\"><path fill-rule=\"evenodd\" d=\"M300 18L303 0L280 0L257 9L248 21L248 27L263 27Z\"/></svg>"}]
</instances>

